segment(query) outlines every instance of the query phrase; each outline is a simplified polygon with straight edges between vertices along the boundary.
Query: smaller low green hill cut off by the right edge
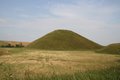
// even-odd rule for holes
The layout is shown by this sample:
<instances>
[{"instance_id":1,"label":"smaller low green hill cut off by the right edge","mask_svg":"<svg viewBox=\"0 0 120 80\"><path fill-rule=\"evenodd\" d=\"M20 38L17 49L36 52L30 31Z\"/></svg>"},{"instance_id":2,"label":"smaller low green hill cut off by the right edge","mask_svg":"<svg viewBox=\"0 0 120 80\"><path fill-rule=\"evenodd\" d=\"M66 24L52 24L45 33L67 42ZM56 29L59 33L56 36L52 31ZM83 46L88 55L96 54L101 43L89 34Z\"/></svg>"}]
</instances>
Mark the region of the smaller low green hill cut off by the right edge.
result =
<instances>
[{"instance_id":1,"label":"smaller low green hill cut off by the right edge","mask_svg":"<svg viewBox=\"0 0 120 80\"><path fill-rule=\"evenodd\" d=\"M120 54L120 43L110 44L110 45L98 50L97 52Z\"/></svg>"}]
</instances>

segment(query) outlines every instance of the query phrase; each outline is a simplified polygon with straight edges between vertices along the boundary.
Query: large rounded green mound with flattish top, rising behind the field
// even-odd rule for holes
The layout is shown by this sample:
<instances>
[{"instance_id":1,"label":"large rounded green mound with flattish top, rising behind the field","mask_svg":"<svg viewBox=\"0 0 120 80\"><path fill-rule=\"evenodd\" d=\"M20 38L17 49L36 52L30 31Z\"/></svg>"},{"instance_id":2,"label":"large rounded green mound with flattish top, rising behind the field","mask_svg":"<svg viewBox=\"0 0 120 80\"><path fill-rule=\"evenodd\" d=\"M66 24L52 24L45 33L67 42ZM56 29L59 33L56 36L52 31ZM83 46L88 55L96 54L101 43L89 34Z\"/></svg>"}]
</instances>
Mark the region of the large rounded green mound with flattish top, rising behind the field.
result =
<instances>
[{"instance_id":1,"label":"large rounded green mound with flattish top, rising behind the field","mask_svg":"<svg viewBox=\"0 0 120 80\"><path fill-rule=\"evenodd\" d=\"M41 50L98 49L101 45L69 30L55 30L33 41L27 48Z\"/></svg>"}]
</instances>

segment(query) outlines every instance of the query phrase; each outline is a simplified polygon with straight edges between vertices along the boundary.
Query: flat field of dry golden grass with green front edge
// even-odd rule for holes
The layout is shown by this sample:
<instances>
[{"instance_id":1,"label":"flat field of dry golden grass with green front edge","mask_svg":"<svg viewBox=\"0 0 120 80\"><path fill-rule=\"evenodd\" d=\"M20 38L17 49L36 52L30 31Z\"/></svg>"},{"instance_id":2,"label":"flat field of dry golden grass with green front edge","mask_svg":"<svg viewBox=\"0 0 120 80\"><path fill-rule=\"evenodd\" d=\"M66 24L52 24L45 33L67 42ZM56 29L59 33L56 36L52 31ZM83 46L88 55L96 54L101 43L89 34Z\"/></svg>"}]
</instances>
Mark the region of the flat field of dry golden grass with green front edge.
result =
<instances>
[{"instance_id":1,"label":"flat field of dry golden grass with green front edge","mask_svg":"<svg viewBox=\"0 0 120 80\"><path fill-rule=\"evenodd\" d=\"M0 49L0 80L120 80L120 55Z\"/></svg>"}]
</instances>

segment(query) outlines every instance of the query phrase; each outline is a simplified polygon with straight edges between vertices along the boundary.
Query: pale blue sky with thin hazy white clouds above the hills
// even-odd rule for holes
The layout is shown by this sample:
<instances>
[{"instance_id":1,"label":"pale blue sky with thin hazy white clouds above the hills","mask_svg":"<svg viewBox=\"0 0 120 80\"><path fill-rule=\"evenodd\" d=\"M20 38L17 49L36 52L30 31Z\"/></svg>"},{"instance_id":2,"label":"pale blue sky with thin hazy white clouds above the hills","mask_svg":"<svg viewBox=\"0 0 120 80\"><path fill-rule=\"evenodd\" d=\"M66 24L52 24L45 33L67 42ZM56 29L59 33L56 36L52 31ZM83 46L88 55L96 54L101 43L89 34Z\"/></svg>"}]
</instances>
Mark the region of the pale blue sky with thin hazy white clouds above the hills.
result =
<instances>
[{"instance_id":1,"label":"pale blue sky with thin hazy white clouds above the hills","mask_svg":"<svg viewBox=\"0 0 120 80\"><path fill-rule=\"evenodd\" d=\"M33 41L56 29L120 43L120 0L0 0L0 40Z\"/></svg>"}]
</instances>

